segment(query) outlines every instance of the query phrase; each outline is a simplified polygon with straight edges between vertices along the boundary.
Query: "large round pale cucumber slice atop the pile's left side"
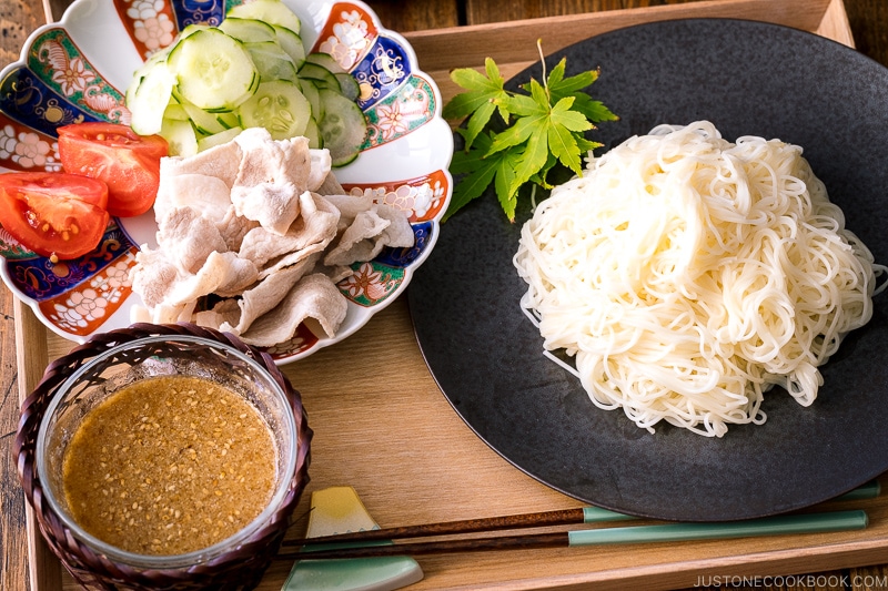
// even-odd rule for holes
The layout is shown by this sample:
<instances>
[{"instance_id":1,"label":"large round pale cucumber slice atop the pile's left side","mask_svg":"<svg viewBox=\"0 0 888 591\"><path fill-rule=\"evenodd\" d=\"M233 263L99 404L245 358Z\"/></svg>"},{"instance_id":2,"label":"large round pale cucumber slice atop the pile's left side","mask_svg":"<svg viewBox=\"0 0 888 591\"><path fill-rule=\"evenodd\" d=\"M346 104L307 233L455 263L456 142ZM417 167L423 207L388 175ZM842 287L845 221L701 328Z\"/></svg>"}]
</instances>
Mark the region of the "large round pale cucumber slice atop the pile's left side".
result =
<instances>
[{"instance_id":1,"label":"large round pale cucumber slice atop the pile's left side","mask_svg":"<svg viewBox=\"0 0 888 591\"><path fill-rule=\"evenodd\" d=\"M243 44L214 28L180 40L168 63L179 75L176 96L205 111L232 111L259 85L259 72Z\"/></svg>"}]
</instances>

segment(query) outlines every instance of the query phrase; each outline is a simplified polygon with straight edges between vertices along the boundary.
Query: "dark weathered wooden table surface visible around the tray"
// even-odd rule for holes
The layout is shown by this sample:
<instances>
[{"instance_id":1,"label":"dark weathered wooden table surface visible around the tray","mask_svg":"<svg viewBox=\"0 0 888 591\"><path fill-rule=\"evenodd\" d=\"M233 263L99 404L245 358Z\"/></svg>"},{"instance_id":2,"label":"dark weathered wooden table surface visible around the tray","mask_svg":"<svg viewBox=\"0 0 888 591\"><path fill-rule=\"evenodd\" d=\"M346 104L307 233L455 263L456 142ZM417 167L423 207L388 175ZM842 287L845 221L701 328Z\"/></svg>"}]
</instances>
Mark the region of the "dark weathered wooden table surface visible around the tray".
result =
<instances>
[{"instance_id":1,"label":"dark weathered wooden table surface visible around the tray","mask_svg":"<svg viewBox=\"0 0 888 591\"><path fill-rule=\"evenodd\" d=\"M551 17L658 4L678 4L695 0L436 0L408 2L377 0L369 3L382 22L402 32L481 24L517 19ZM699 0L697 0L699 1ZM717 1L717 0L716 0ZM2 0L0 1L0 68L14 61L28 34L42 24L46 14L61 16L68 0ZM888 2L885 0L845 0L856 48L888 65ZM887 105L888 106L888 105ZM404 305L393 306L391 315L403 319ZM26 532L24 498L16 475L11 454L19 418L17 350L13 297L0 288L0 589L27 590L28 536ZM888 561L888 549L885 553ZM719 573L713 573L719 574ZM723 573L724 574L724 573ZM888 564L817 572L817 579L800 577L800 583L784 589L864 589L886 588ZM814 582L816 584L808 584ZM834 584L837 583L837 584ZM867 587L867 583L869 585ZM735 588L735 587L731 587Z\"/></svg>"}]
</instances>

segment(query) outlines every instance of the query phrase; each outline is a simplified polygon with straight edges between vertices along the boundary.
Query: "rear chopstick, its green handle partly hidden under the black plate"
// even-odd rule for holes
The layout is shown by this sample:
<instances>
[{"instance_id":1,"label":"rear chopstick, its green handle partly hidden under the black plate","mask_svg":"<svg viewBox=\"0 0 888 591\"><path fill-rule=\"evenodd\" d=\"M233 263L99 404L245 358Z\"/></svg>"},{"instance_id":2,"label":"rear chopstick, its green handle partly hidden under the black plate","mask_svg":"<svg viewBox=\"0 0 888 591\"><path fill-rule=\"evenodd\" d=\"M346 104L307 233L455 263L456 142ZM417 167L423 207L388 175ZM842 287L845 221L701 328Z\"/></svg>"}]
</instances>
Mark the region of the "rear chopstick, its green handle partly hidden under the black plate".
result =
<instances>
[{"instance_id":1,"label":"rear chopstick, its green handle partly hidden under the black plate","mask_svg":"<svg viewBox=\"0 0 888 591\"><path fill-rule=\"evenodd\" d=\"M846 495L837 497L835 501L871 499L878 497L880 487L878 480L871 480ZM357 541L397 540L403 538L425 538L431 536L453 536L460 533L475 533L482 531L502 531L506 529L539 528L549 526L569 526L576 523L602 523L635 519L632 516L601 509L598 507L581 507L575 509L561 509L555 511L541 511L519 513L513 516L488 517L481 519L464 519L457 521L443 521L438 523L424 523L421 526L402 526L385 529L372 529L336 533L316 538L284 540L285 547L303 547L309 544L345 543Z\"/></svg>"}]
</instances>

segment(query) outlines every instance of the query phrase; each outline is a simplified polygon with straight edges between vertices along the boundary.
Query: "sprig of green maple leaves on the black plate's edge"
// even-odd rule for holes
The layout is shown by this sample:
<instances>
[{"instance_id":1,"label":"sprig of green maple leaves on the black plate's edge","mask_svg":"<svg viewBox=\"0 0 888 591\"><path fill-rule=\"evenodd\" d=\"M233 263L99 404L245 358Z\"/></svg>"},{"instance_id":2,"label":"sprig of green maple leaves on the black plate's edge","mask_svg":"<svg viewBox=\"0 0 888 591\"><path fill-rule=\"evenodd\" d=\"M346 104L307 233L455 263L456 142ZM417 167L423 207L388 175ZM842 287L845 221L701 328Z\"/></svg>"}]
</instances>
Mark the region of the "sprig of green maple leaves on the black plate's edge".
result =
<instances>
[{"instance_id":1,"label":"sprig of green maple leaves on the black plate's edge","mask_svg":"<svg viewBox=\"0 0 888 591\"><path fill-rule=\"evenodd\" d=\"M617 118L583 92L597 80L597 70L568 78L565 72L562 59L548 75L544 73L542 84L533 79L523 84L524 94L505 90L505 80L490 58L484 74L470 68L452 72L451 78L466 92L454 96L443 114L467 121L465 129L457 130L465 147L454 154L451 172L462 176L444 220L493 184L503 211L514 222L522 186L529 182L552 188L547 176L557 165L582 174L583 155L602 146L584 134L595 129L593 123ZM497 111L504 128L493 124Z\"/></svg>"}]
</instances>

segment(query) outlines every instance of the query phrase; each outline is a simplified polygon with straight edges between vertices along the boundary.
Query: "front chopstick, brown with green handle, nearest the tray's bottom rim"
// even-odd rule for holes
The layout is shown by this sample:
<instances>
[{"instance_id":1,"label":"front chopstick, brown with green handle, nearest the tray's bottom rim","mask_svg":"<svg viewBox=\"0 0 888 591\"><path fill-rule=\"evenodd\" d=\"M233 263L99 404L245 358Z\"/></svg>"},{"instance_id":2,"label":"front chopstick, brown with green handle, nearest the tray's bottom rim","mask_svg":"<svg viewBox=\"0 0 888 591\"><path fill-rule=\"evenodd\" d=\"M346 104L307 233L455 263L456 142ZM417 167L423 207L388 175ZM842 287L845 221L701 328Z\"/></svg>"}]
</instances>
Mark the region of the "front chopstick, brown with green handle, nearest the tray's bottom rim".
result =
<instances>
[{"instance_id":1,"label":"front chopstick, brown with green handle, nearest the tray's bottom rim","mask_svg":"<svg viewBox=\"0 0 888 591\"><path fill-rule=\"evenodd\" d=\"M820 513L797 513L747 521L725 523L665 523L657 526L635 526L619 528L598 528L561 531L553 533L529 533L470 538L456 540L434 540L406 543L376 543L350 548L327 548L312 550L315 544L303 547L301 551L284 551L279 558L300 560L352 559L392 556L424 556L490 550L574 548L595 544L674 542L707 539L746 538L827 531L849 531L866 528L867 513L861 510L828 511Z\"/></svg>"}]
</instances>

